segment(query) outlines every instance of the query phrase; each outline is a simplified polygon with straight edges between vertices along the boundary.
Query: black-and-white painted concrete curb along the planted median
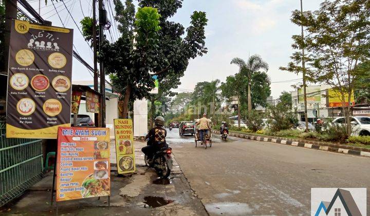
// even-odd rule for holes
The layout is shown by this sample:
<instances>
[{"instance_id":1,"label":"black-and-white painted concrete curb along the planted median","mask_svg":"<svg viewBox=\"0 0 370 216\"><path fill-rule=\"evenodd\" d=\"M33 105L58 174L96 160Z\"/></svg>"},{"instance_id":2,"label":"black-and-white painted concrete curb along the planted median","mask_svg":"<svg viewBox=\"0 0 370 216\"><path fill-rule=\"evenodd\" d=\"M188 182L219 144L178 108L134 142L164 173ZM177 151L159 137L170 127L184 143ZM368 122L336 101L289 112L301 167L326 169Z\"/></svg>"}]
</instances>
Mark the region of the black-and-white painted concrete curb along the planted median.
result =
<instances>
[{"instance_id":1,"label":"black-and-white painted concrete curb along the planted median","mask_svg":"<svg viewBox=\"0 0 370 216\"><path fill-rule=\"evenodd\" d=\"M212 130L212 132L215 134L219 134L219 131L216 131L216 130ZM279 143L279 144L284 144L284 145L303 147L307 149L317 149L317 150L322 150L322 151L330 151L330 152L338 152L338 153L344 153L344 154L352 154L352 155L357 155L357 156L370 157L370 151L367 151L368 149L365 149L365 151L362 151L363 148L359 148L361 150L357 150L356 147L347 148L347 146L336 145L333 143L325 143L329 145L329 146L326 146L326 145L320 145L321 143L316 142L316 141L314 143L309 143L310 141L299 140L299 139L258 136L258 135L241 134L241 133L234 133L234 132L230 132L229 136L250 139L250 140L255 140L255 141L273 142L273 143Z\"/></svg>"}]
</instances>

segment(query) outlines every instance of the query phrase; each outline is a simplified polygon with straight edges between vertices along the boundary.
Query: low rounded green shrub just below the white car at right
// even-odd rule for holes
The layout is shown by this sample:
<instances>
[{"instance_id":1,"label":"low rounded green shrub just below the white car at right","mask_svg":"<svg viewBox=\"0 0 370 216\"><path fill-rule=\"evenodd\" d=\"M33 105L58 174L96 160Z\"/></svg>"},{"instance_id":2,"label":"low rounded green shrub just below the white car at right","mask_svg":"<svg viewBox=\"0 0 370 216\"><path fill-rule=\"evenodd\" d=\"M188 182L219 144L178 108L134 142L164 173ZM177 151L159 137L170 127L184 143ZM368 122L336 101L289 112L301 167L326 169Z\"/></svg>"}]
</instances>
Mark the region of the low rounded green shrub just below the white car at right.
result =
<instances>
[{"instance_id":1,"label":"low rounded green shrub just below the white car at right","mask_svg":"<svg viewBox=\"0 0 370 216\"><path fill-rule=\"evenodd\" d=\"M348 138L345 124L328 125L326 131L319 135L319 139L323 141L339 141L345 142Z\"/></svg>"}]
</instances>

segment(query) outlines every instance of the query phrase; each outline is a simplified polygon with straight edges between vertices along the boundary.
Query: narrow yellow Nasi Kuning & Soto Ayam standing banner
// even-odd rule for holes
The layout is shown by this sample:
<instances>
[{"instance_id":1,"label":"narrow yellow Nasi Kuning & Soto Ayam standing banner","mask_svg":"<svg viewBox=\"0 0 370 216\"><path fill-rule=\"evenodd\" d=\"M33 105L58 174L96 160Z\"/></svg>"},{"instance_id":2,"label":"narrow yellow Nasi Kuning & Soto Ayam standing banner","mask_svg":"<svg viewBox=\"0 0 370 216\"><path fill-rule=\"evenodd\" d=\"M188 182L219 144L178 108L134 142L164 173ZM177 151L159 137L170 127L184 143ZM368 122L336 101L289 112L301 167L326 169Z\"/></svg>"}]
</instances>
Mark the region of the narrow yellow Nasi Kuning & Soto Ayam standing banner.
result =
<instances>
[{"instance_id":1,"label":"narrow yellow Nasi Kuning & Soto Ayam standing banner","mask_svg":"<svg viewBox=\"0 0 370 216\"><path fill-rule=\"evenodd\" d=\"M135 172L132 119L114 119L118 174Z\"/></svg>"}]
</instances>

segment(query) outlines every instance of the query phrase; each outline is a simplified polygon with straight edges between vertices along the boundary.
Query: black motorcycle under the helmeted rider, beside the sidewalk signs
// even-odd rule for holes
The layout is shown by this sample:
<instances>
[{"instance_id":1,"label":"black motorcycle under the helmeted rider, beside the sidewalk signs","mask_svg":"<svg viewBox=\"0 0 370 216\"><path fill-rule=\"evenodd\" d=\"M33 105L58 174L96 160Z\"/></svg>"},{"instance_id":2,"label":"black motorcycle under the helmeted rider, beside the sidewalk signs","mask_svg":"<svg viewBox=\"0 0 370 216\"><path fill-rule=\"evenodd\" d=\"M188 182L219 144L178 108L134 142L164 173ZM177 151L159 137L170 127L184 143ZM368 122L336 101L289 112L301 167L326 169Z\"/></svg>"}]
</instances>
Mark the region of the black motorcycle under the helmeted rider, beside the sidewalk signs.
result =
<instances>
[{"instance_id":1,"label":"black motorcycle under the helmeted rider, beside the sidewalk signs","mask_svg":"<svg viewBox=\"0 0 370 216\"><path fill-rule=\"evenodd\" d=\"M170 176L173 167L171 153L172 148L165 147L157 151L152 160L145 155L145 165L149 168L154 168L157 175L167 178Z\"/></svg>"}]
</instances>

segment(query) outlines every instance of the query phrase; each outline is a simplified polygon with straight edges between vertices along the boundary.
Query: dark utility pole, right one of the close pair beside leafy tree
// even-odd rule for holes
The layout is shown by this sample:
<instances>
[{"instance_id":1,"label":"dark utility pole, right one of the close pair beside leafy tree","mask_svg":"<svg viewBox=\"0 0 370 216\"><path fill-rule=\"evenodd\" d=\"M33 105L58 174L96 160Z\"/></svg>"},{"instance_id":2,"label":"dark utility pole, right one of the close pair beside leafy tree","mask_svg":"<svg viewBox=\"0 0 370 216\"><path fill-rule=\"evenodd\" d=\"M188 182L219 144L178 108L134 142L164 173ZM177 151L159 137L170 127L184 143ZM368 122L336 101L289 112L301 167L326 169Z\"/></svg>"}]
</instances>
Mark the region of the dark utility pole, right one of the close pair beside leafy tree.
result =
<instances>
[{"instance_id":1,"label":"dark utility pole, right one of the close pair beside leafy tree","mask_svg":"<svg viewBox=\"0 0 370 216\"><path fill-rule=\"evenodd\" d=\"M102 49L104 40L104 25L106 24L106 11L103 9L103 0L99 0L99 50ZM100 127L105 128L105 71L103 62L99 62L100 72Z\"/></svg>"}]
</instances>

